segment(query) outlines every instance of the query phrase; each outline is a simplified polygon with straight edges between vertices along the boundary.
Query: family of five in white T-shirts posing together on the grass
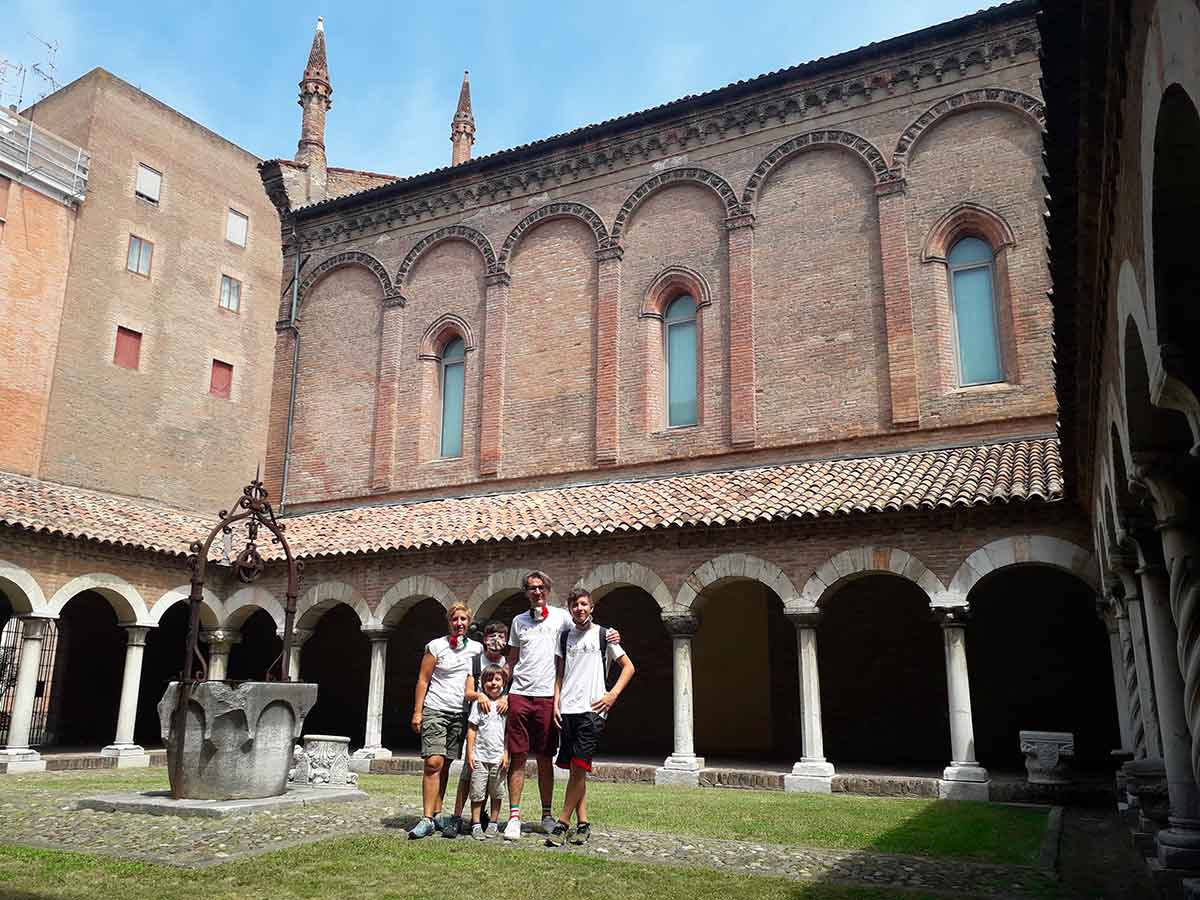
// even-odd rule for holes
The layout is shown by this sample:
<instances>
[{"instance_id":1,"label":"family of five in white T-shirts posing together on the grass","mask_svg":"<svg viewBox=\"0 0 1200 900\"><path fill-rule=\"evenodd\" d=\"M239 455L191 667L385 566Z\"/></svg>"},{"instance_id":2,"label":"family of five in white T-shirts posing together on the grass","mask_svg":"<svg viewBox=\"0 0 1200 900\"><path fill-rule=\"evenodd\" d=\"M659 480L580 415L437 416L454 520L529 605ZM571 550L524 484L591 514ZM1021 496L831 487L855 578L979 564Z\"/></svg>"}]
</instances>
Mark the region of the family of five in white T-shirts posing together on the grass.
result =
<instances>
[{"instance_id":1,"label":"family of five in white T-shirts posing together on the grass","mask_svg":"<svg viewBox=\"0 0 1200 900\"><path fill-rule=\"evenodd\" d=\"M538 763L546 844L563 846L568 838L586 844L592 834L587 775L608 712L634 677L634 664L620 647L620 634L593 622L588 592L572 590L563 610L550 605L551 580L545 572L526 575L522 588L529 611L512 619L511 630L490 622L484 642L473 641L470 610L454 604L446 612L446 636L425 646L413 703L413 730L421 736L425 762L422 816L408 833L410 839L438 830L458 836L468 798L473 838L486 840L499 833L508 799L504 839L520 839L529 756ZM611 665L619 672L610 686ZM460 756L455 810L445 816L450 763ZM552 815L552 763L570 770L558 818Z\"/></svg>"}]
</instances>

